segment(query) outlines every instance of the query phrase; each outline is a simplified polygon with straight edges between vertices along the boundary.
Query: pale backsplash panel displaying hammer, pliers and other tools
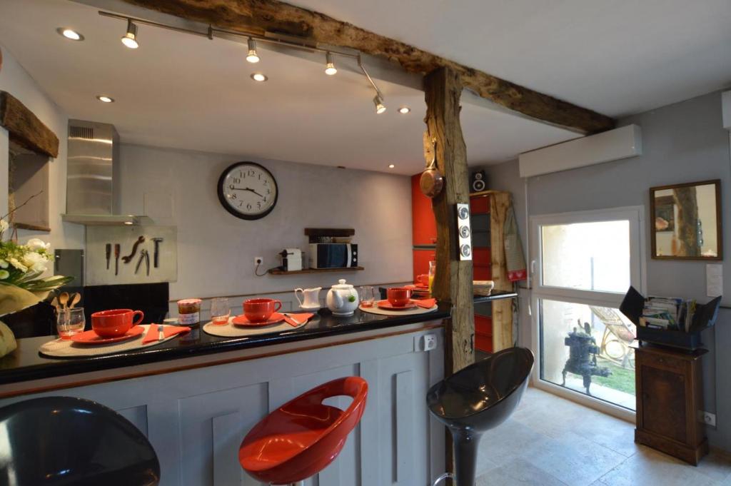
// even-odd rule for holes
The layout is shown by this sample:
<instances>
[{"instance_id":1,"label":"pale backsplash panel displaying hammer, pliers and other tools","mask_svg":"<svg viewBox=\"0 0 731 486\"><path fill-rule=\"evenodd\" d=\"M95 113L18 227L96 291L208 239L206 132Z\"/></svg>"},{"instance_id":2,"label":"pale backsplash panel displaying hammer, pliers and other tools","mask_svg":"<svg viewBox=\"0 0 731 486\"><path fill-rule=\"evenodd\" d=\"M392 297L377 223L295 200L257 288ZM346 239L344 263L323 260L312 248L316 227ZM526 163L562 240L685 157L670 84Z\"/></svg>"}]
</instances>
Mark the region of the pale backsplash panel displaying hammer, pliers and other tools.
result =
<instances>
[{"instance_id":1,"label":"pale backsplash panel displaying hammer, pliers and other tools","mask_svg":"<svg viewBox=\"0 0 731 486\"><path fill-rule=\"evenodd\" d=\"M178 230L172 226L87 227L87 285L176 281L177 241ZM111 255L107 262L110 246ZM112 263L113 269L110 268Z\"/></svg>"}]
</instances>

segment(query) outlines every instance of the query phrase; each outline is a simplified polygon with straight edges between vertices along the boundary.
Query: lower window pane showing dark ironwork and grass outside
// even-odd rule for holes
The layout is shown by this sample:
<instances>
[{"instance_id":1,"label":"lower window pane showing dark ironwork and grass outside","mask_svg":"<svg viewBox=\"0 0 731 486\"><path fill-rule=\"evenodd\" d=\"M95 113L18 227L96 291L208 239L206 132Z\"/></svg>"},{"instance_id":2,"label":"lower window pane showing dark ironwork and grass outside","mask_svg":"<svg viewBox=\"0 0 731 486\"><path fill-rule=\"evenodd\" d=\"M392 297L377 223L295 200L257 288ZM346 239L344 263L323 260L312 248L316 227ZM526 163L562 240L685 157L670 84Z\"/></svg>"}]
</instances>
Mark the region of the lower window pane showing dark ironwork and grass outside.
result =
<instances>
[{"instance_id":1,"label":"lower window pane showing dark ironwork and grass outside","mask_svg":"<svg viewBox=\"0 0 731 486\"><path fill-rule=\"evenodd\" d=\"M548 299L539 317L542 380L635 409L635 324L616 308Z\"/></svg>"}]
</instances>

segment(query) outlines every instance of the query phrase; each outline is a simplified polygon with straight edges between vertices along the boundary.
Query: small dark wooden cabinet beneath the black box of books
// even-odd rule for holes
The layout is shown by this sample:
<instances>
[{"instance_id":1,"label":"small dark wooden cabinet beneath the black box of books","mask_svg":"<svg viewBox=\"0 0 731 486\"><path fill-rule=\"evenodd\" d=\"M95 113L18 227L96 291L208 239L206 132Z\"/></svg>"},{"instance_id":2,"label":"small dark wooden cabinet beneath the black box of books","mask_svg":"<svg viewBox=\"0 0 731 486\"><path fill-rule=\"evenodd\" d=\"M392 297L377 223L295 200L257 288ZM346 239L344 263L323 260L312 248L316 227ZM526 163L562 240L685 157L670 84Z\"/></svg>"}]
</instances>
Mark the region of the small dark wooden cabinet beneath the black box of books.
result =
<instances>
[{"instance_id":1,"label":"small dark wooden cabinet beneath the black box of books","mask_svg":"<svg viewBox=\"0 0 731 486\"><path fill-rule=\"evenodd\" d=\"M708 454L703 410L702 355L659 346L635 350L638 444L697 465Z\"/></svg>"}]
</instances>

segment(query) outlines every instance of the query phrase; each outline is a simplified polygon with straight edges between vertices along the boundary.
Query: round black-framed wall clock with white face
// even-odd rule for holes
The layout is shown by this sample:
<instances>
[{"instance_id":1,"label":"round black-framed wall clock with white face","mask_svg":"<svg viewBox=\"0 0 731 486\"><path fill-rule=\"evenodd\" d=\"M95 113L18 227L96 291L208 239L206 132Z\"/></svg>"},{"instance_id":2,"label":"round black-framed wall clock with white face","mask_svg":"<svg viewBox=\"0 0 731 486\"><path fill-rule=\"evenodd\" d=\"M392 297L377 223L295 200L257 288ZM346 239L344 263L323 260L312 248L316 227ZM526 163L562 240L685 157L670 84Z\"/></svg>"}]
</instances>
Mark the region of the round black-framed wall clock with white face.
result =
<instances>
[{"instance_id":1,"label":"round black-framed wall clock with white face","mask_svg":"<svg viewBox=\"0 0 731 486\"><path fill-rule=\"evenodd\" d=\"M279 196L274 176L254 162L237 162L224 170L218 190L221 205L241 219L268 215Z\"/></svg>"}]
</instances>

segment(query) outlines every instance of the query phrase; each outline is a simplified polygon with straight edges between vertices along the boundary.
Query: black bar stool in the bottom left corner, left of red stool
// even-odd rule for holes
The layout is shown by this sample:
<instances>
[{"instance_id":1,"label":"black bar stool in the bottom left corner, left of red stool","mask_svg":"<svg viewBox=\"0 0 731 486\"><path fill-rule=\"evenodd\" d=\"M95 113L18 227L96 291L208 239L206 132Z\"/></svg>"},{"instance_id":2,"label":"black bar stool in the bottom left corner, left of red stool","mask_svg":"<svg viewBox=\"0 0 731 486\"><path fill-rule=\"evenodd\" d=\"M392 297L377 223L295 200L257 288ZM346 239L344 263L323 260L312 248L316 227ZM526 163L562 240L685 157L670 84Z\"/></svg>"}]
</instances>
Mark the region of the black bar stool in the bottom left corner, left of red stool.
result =
<instances>
[{"instance_id":1,"label":"black bar stool in the bottom left corner, left of red stool","mask_svg":"<svg viewBox=\"0 0 731 486\"><path fill-rule=\"evenodd\" d=\"M155 486L155 450L112 409L71 397L34 398L0 409L0 484Z\"/></svg>"}]
</instances>

